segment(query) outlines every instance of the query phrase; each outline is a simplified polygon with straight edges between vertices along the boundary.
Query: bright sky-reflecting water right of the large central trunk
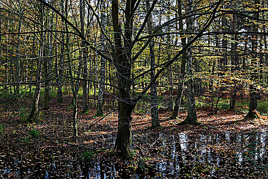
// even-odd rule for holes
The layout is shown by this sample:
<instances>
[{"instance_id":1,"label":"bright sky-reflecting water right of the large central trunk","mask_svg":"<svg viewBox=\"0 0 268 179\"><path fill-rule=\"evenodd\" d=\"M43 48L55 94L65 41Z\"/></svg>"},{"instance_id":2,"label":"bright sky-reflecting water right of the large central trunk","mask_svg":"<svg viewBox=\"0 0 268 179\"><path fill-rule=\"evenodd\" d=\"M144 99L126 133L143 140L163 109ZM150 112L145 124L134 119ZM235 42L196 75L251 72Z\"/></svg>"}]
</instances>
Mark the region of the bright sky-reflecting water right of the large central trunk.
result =
<instances>
[{"instance_id":1,"label":"bright sky-reflecting water right of the large central trunk","mask_svg":"<svg viewBox=\"0 0 268 179\"><path fill-rule=\"evenodd\" d=\"M251 135L251 137L231 133L224 135L180 133L178 136L178 140L175 140L174 136L168 137L169 141L166 139L166 143L171 144L170 151L167 151L170 152L170 158L163 159L163 162L160 161L155 165L156 176L247 178L252 172L257 171L252 167L252 161L255 160L255 164L258 166L265 166L268 163L266 132L259 132L256 136ZM251 152L252 155L245 155L246 152ZM257 177L266 178L267 176Z\"/></svg>"}]
</instances>

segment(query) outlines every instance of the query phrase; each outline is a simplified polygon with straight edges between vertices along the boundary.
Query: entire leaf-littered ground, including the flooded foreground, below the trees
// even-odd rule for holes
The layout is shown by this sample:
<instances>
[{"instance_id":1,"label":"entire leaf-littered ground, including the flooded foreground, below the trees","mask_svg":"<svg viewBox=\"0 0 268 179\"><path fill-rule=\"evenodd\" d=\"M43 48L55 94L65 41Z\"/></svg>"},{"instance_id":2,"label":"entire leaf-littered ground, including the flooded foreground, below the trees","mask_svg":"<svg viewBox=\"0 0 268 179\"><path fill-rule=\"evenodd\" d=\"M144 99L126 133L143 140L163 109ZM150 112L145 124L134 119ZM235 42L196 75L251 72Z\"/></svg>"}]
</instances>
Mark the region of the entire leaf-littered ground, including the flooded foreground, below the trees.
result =
<instances>
[{"instance_id":1,"label":"entire leaf-littered ground, including the flooded foreground, below the trees","mask_svg":"<svg viewBox=\"0 0 268 179\"><path fill-rule=\"evenodd\" d=\"M266 118L246 121L233 111L210 116L199 110L203 126L178 126L180 120L168 120L170 114L162 113L163 127L151 129L147 110L138 108L133 115L132 152L126 160L112 150L117 113L100 120L94 116L92 100L89 113L79 114L75 141L70 103L68 98L63 104L54 102L34 124L25 122L21 112L30 101L0 104L0 178L268 177ZM113 110L113 103L106 101L110 109L105 113ZM185 116L181 113L180 119ZM152 167L145 173L136 170L141 155Z\"/></svg>"}]
</instances>

